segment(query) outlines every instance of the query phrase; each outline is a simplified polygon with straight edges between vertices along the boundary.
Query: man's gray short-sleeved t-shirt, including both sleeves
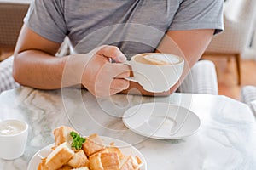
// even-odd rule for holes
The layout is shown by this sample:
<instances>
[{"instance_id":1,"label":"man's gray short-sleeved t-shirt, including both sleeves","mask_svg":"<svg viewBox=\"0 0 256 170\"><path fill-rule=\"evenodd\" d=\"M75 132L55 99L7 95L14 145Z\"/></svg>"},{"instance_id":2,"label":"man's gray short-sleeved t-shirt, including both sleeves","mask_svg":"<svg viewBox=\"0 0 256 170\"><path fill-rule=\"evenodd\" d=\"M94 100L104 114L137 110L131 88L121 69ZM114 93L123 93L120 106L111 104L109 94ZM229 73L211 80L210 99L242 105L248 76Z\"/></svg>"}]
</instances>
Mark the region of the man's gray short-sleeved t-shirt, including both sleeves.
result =
<instances>
[{"instance_id":1,"label":"man's gray short-sleeved t-shirt, including both sleeves","mask_svg":"<svg viewBox=\"0 0 256 170\"><path fill-rule=\"evenodd\" d=\"M109 44L128 57L153 52L169 30L224 29L223 0L35 0L24 21L51 41L68 36L77 53Z\"/></svg>"}]
</instances>

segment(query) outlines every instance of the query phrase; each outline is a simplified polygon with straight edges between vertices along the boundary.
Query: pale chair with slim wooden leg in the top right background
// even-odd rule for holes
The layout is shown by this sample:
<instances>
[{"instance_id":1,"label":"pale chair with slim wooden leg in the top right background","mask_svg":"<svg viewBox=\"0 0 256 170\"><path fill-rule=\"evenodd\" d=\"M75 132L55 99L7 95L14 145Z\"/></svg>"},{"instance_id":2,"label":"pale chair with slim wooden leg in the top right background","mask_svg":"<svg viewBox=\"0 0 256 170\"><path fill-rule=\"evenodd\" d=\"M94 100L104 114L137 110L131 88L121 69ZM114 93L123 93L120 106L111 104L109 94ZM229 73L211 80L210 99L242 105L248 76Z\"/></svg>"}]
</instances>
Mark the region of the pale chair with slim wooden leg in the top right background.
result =
<instances>
[{"instance_id":1,"label":"pale chair with slim wooden leg in the top right background","mask_svg":"<svg viewBox=\"0 0 256 170\"><path fill-rule=\"evenodd\" d=\"M235 57L241 84L241 54L249 48L256 17L256 0L228 0L224 3L224 32L212 38L204 55Z\"/></svg>"}]
</instances>

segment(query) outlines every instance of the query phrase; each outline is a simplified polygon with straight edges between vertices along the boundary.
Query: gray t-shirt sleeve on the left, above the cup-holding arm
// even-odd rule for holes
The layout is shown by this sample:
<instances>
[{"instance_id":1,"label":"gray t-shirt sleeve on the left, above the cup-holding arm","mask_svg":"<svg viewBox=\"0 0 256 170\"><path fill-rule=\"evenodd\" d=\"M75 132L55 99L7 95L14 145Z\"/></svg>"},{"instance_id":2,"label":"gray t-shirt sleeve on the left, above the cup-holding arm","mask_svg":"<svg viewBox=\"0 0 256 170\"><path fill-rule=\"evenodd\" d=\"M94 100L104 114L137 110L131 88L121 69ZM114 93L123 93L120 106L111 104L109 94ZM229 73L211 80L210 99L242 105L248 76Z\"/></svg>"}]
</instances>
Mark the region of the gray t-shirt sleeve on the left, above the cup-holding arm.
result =
<instances>
[{"instance_id":1,"label":"gray t-shirt sleeve on the left, above the cup-holding arm","mask_svg":"<svg viewBox=\"0 0 256 170\"><path fill-rule=\"evenodd\" d=\"M62 42L67 35L64 1L34 0L24 19L32 31L53 42Z\"/></svg>"}]
</instances>

